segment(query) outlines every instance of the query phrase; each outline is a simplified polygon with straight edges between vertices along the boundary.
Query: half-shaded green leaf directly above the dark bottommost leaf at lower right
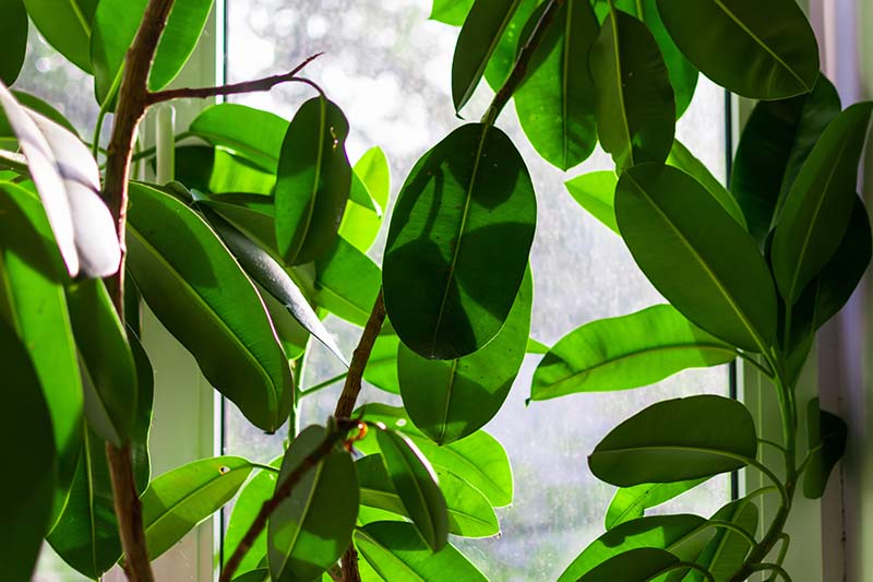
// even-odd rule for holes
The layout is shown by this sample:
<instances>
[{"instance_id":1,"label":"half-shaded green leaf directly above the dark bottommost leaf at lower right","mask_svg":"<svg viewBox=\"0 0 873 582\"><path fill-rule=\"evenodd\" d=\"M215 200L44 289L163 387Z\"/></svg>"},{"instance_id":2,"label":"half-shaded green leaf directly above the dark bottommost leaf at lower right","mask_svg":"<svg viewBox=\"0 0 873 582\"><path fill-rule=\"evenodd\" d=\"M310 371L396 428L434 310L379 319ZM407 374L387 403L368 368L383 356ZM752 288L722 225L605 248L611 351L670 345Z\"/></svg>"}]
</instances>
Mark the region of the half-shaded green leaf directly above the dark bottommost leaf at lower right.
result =
<instances>
[{"instance_id":1,"label":"half-shaded green leaf directly above the dark bottommost leaf at lower right","mask_svg":"<svg viewBox=\"0 0 873 582\"><path fill-rule=\"evenodd\" d=\"M558 579L558 582L575 582L609 559L636 548L660 548L673 550L706 520L697 515L653 515L621 523L595 539ZM606 579L603 579L606 580ZM644 580L619 577L613 580Z\"/></svg>"}]
</instances>

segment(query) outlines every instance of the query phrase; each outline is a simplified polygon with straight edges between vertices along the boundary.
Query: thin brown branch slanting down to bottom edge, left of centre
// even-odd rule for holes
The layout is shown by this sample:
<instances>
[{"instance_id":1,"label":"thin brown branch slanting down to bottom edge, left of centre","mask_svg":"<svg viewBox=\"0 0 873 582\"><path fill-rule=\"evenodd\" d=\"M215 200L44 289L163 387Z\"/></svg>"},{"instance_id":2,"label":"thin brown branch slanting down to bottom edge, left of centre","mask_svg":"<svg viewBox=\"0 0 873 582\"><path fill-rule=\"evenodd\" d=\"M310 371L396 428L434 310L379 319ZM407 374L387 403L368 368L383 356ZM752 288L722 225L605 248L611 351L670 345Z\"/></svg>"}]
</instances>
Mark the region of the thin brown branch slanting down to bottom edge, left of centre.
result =
<instances>
[{"instance_id":1,"label":"thin brown branch slanting down to bottom edge, left of centre","mask_svg":"<svg viewBox=\"0 0 873 582\"><path fill-rule=\"evenodd\" d=\"M327 433L324 436L324 440L321 441L321 444L319 444L314 451L303 458L297 468L291 471L285 480L283 480L278 487L276 487L273 497L264 501L264 504L261 506L261 511L258 512L258 515L255 515L254 521L249 526L246 535L242 536L237 549L234 550L230 559L227 560L218 582L230 582L237 569L239 568L242 558L246 557L246 554L251 549L252 545L254 545L258 536L261 535L266 527L270 515L276 511L283 501L290 497L295 486L300 483L300 479L302 479L309 471L318 466L325 456L331 454L336 443L345 439L348 431L356 426L358 426L356 420L337 418L335 426L327 431Z\"/></svg>"}]
</instances>

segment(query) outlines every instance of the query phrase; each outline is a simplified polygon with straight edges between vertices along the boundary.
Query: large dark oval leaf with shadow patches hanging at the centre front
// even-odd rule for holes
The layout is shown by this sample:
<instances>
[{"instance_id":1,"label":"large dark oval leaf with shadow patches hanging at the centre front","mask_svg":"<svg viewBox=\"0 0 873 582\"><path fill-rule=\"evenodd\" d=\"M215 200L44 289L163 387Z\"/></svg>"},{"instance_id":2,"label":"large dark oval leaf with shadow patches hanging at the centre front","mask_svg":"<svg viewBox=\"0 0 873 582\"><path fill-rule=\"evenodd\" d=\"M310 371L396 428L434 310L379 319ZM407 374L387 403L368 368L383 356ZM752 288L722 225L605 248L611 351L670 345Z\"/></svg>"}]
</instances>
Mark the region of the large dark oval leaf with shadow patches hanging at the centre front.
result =
<instances>
[{"instance_id":1,"label":"large dark oval leaf with shadow patches hanging at the centre front","mask_svg":"<svg viewBox=\"0 0 873 582\"><path fill-rule=\"evenodd\" d=\"M388 230L385 308L397 334L428 358L488 343L524 278L536 198L521 154L500 129L469 123L416 164Z\"/></svg>"}]
</instances>

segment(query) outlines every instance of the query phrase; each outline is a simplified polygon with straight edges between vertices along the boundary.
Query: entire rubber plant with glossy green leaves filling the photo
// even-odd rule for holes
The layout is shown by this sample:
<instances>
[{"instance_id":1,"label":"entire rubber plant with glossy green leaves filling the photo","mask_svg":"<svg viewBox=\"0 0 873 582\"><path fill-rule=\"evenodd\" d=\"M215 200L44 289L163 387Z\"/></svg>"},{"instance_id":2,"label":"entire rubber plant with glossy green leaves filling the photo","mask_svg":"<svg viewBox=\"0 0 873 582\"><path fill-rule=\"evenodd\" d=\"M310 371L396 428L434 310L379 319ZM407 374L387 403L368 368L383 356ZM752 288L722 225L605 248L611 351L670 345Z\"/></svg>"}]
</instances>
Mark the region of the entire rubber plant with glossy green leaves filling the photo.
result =
<instances>
[{"instance_id":1,"label":"entire rubber plant with glossy green leaves filling the photo","mask_svg":"<svg viewBox=\"0 0 873 582\"><path fill-rule=\"evenodd\" d=\"M870 261L856 178L873 107L841 110L793 0L434 0L433 19L462 25L455 109L470 115L483 78L494 98L412 168L381 269L366 252L388 203L387 163L374 147L350 164L347 119L301 76L314 57L272 78L166 88L211 9L3 4L0 447L15 467L0 486L4 580L29 580L47 542L88 578L120 563L130 580L151 581L151 561L231 499L223 581L483 580L449 534L499 533L493 508L512 502L512 473L482 427L525 353L545 347L529 338L535 187L498 126L511 99L547 163L569 170L598 143L612 155L614 171L567 188L669 301L545 349L531 400L740 358L770 381L781 415L780 442L757 437L742 403L715 395L661 402L621 424L589 456L591 472L620 487L608 531L561 580L790 580L784 527L796 489L821 496L846 439L816 401L797 402L796 385L816 330ZM89 144L50 104L7 88L28 21L94 76ZM674 139L698 71L760 99L729 189ZM286 82L313 94L290 121L207 107L179 135L175 181L131 179L131 163L155 155L133 155L148 107ZM273 463L218 456L151 475L141 300L254 426L287 423L289 446ZM344 380L334 416L298 430L300 401L322 388L301 387L309 346L347 361L322 323L328 312L363 330L334 379ZM362 380L398 393L403 407L356 409ZM784 467L760 461L762 447ZM772 485L709 518L644 515L743 468ZM779 510L758 534L763 496Z\"/></svg>"}]
</instances>

